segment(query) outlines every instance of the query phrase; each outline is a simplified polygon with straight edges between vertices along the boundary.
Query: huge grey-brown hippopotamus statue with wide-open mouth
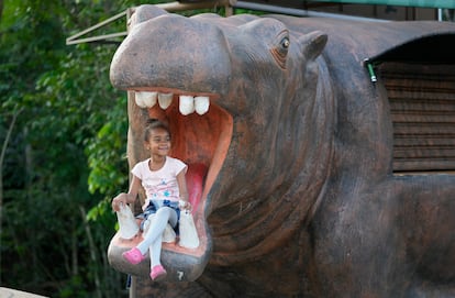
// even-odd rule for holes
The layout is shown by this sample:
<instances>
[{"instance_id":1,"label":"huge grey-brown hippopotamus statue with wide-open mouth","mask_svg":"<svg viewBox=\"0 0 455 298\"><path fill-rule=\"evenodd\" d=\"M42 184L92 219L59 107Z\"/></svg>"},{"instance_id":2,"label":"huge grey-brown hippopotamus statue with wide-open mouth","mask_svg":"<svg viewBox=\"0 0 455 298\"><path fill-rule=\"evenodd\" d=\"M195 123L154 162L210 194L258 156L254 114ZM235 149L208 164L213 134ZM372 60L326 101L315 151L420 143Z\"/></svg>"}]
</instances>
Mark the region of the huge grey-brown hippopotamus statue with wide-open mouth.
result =
<instances>
[{"instance_id":1,"label":"huge grey-brown hippopotamus statue with wide-open mouth","mask_svg":"<svg viewBox=\"0 0 455 298\"><path fill-rule=\"evenodd\" d=\"M110 69L129 92L129 163L146 157L145 121L166 121L200 245L164 244L153 283L121 257L137 240L115 235L109 260L134 297L455 297L455 167L393 168L380 69L453 78L454 41L444 22L136 8Z\"/></svg>"}]
</instances>

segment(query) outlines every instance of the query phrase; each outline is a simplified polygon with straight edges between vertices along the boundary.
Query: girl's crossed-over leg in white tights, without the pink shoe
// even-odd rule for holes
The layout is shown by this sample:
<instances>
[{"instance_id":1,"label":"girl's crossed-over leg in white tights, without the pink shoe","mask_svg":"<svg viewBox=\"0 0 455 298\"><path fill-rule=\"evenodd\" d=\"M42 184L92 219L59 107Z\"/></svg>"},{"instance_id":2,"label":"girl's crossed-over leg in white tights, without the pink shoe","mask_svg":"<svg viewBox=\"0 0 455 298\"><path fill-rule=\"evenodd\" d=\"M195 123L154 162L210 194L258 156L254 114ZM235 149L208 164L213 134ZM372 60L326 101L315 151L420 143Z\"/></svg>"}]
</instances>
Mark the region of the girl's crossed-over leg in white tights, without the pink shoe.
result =
<instances>
[{"instance_id":1,"label":"girl's crossed-over leg in white tights, without the pink shoe","mask_svg":"<svg viewBox=\"0 0 455 298\"><path fill-rule=\"evenodd\" d=\"M148 231L144 235L144 240L136 246L143 255L145 255L148 247L151 247L155 242L157 242L158 238L159 247L157 246L157 249L160 252L162 235L164 230L166 229L167 222L169 222L171 227L175 227L177 224L177 212L173 208L162 207L156 211L153 221L148 228ZM153 262L156 262L155 260Z\"/></svg>"}]
</instances>

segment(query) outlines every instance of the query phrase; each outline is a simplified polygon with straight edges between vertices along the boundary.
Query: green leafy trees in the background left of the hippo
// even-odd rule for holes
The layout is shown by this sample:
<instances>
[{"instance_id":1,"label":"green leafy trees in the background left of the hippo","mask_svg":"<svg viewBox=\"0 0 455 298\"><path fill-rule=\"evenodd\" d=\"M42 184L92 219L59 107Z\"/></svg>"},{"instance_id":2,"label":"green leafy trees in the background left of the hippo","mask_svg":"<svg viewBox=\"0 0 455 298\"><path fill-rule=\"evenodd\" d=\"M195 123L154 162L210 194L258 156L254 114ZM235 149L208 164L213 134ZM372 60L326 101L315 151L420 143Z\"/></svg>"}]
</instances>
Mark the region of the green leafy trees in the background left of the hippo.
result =
<instances>
[{"instance_id":1,"label":"green leafy trees in the background left of the hippo","mask_svg":"<svg viewBox=\"0 0 455 298\"><path fill-rule=\"evenodd\" d=\"M48 297L126 296L126 276L106 252L116 223L110 200L129 179L126 93L109 81L116 44L65 40L158 2L170 1L0 1L2 145L19 114L0 166L2 286ZM122 19L95 34L124 30Z\"/></svg>"}]
</instances>

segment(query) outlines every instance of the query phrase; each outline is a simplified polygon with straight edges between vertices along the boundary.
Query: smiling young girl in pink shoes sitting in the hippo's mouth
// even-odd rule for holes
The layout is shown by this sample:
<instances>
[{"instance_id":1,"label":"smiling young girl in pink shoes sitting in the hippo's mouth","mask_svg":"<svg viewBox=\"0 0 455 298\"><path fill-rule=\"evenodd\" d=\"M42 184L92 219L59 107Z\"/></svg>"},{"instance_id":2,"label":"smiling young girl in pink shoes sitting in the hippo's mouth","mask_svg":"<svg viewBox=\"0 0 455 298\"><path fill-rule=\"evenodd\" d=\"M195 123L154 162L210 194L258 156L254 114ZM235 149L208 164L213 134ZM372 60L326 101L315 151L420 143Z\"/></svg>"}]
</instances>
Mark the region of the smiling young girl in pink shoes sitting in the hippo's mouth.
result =
<instances>
[{"instance_id":1,"label":"smiling young girl in pink shoes sitting in the hippo's mouth","mask_svg":"<svg viewBox=\"0 0 455 298\"><path fill-rule=\"evenodd\" d=\"M112 200L112 209L118 211L120 203L135 201L141 185L145 189L146 200L142 207L144 221L151 217L152 222L144 233L144 240L136 247L123 253L131 264L138 264L149 251L151 278L163 279L166 269L160 264L162 235L167 223L176 228L180 218L180 208L190 209L185 174L187 165L177 158L167 156L170 151L170 131L158 120L148 120L145 134L145 147L151 157L137 163L133 169L133 178L127 194L120 194Z\"/></svg>"}]
</instances>

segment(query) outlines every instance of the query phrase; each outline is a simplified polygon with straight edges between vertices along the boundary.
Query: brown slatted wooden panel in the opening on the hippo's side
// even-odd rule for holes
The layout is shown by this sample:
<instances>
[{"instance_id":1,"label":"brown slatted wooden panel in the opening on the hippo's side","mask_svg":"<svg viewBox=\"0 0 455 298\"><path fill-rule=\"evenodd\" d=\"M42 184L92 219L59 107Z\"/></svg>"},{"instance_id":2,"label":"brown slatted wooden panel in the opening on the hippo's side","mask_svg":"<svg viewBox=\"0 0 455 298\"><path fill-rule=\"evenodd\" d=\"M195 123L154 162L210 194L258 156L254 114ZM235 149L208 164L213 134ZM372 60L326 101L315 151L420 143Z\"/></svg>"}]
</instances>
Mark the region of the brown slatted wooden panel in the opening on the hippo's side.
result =
<instances>
[{"instance_id":1,"label":"brown slatted wooden panel in the opening on the hippo's side","mask_svg":"<svg viewBox=\"0 0 455 298\"><path fill-rule=\"evenodd\" d=\"M455 170L455 69L385 63L395 173Z\"/></svg>"}]
</instances>

